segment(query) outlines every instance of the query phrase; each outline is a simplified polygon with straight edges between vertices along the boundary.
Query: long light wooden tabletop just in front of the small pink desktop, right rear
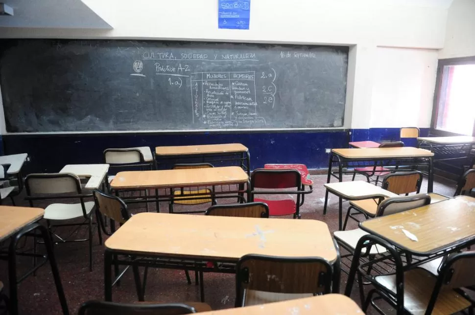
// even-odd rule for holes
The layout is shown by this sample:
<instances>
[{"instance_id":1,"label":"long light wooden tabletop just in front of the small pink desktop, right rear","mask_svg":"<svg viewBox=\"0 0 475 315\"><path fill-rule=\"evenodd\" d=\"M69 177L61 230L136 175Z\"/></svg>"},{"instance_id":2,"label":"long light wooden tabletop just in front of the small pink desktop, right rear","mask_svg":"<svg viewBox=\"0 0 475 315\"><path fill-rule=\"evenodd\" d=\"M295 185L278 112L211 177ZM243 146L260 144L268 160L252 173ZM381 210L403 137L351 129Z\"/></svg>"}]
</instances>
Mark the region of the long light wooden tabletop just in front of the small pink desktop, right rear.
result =
<instances>
[{"instance_id":1,"label":"long light wooden tabletop just in front of the small pink desktop, right rear","mask_svg":"<svg viewBox=\"0 0 475 315\"><path fill-rule=\"evenodd\" d=\"M413 158L431 157L434 153L417 147L367 147L332 149L332 152L347 159Z\"/></svg>"}]
</instances>

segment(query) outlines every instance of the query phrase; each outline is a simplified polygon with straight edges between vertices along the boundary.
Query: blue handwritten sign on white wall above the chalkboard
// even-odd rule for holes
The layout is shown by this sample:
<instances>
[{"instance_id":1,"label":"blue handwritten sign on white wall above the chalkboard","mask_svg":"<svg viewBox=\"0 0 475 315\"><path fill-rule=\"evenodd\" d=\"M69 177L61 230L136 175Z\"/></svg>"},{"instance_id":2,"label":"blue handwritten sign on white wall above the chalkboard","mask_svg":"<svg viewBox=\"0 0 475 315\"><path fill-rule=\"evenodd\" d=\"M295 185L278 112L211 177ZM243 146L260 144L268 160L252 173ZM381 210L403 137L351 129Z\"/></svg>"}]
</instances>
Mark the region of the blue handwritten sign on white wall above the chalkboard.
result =
<instances>
[{"instance_id":1,"label":"blue handwritten sign on white wall above the chalkboard","mask_svg":"<svg viewBox=\"0 0 475 315\"><path fill-rule=\"evenodd\" d=\"M249 29L251 0L218 0L218 27Z\"/></svg>"}]
</instances>

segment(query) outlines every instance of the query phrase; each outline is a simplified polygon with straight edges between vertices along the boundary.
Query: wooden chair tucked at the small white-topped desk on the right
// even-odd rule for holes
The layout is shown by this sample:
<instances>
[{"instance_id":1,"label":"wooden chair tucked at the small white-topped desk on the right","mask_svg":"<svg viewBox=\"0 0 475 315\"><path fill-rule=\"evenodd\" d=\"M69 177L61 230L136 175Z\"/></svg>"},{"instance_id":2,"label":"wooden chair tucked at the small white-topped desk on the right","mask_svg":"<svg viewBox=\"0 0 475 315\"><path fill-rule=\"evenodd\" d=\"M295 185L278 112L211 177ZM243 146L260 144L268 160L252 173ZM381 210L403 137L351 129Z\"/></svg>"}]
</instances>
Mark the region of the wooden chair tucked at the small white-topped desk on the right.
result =
<instances>
[{"instance_id":1,"label":"wooden chair tucked at the small white-topped desk on the right","mask_svg":"<svg viewBox=\"0 0 475 315\"><path fill-rule=\"evenodd\" d=\"M422 185L422 173L414 170L409 172L391 173L384 177L382 180L382 188L389 190L398 195L408 195L409 193L419 193ZM363 199L350 201L350 207L346 213L345 223L343 224L343 230L346 228L348 218L352 218L355 221L359 220L354 216L355 214L363 214L366 218L374 218L378 210L379 202L382 198L375 199ZM356 212L351 213L351 210Z\"/></svg>"}]
</instances>

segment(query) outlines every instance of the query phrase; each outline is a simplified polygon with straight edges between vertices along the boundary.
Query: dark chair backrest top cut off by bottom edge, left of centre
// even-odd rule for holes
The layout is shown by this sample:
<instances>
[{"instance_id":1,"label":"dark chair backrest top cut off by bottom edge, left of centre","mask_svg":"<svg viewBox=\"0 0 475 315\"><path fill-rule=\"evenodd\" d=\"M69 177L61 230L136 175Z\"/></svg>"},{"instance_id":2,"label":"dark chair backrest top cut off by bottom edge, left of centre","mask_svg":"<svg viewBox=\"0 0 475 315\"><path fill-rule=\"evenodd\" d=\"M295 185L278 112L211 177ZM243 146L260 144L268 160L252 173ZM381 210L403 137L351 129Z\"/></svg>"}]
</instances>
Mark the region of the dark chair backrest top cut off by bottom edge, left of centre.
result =
<instances>
[{"instance_id":1,"label":"dark chair backrest top cut off by bottom edge, left of centre","mask_svg":"<svg viewBox=\"0 0 475 315\"><path fill-rule=\"evenodd\" d=\"M88 301L79 308L79 315L182 315L196 313L191 306L181 303L124 304Z\"/></svg>"}]
</instances>

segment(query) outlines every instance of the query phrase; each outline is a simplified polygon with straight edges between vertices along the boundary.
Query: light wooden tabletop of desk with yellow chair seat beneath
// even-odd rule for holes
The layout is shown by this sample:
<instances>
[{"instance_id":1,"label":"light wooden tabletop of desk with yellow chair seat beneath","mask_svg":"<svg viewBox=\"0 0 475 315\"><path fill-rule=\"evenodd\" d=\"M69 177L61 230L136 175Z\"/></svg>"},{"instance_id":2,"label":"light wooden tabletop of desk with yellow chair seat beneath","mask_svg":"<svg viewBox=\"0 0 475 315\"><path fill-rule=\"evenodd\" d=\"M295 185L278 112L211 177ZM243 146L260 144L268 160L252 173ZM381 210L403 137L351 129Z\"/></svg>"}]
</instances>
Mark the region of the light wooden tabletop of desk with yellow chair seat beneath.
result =
<instances>
[{"instance_id":1,"label":"light wooden tabletop of desk with yellow chair seat beneath","mask_svg":"<svg viewBox=\"0 0 475 315\"><path fill-rule=\"evenodd\" d=\"M249 177L240 167L139 170L117 173L112 189L197 187L244 184Z\"/></svg>"}]
</instances>

